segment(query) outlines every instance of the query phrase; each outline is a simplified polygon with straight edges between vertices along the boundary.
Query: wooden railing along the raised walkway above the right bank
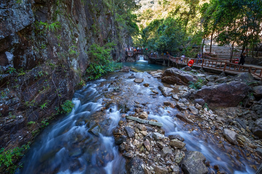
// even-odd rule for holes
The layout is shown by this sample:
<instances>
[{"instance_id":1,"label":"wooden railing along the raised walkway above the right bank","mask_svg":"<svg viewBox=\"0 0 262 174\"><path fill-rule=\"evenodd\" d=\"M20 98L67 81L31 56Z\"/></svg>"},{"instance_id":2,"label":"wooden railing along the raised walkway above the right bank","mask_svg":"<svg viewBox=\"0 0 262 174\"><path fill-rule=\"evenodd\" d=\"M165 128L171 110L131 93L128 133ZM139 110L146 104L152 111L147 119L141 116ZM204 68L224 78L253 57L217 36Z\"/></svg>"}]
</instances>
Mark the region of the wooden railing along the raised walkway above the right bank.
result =
<instances>
[{"instance_id":1,"label":"wooden railing along the raised walkway above the right bank","mask_svg":"<svg viewBox=\"0 0 262 174\"><path fill-rule=\"evenodd\" d=\"M219 60L211 60L211 59L197 59L197 58L177 58L169 55L147 55L148 58L153 59L163 59L169 60L173 63L188 65L190 60L194 61L194 65L218 69L222 71L234 71L234 72L249 72L254 74L255 76L261 78L262 80L262 68L238 65L235 63L230 63L228 61L219 61Z\"/></svg>"}]
</instances>

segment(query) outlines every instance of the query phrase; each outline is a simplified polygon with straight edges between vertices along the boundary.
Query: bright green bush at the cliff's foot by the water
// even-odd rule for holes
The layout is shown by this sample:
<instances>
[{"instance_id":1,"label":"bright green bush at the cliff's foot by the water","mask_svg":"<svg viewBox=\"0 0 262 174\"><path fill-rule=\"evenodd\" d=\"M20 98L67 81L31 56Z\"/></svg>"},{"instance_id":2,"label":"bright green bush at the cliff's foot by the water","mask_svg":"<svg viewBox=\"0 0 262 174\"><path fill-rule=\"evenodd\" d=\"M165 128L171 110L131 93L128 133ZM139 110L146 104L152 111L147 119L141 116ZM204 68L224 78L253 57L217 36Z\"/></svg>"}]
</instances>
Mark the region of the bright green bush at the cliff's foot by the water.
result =
<instances>
[{"instance_id":1,"label":"bright green bush at the cliff's foot by the water","mask_svg":"<svg viewBox=\"0 0 262 174\"><path fill-rule=\"evenodd\" d=\"M114 71L114 62L111 57L111 47L114 43L108 43L104 46L92 44L87 54L90 58L90 64L86 69L88 79L98 79L102 75Z\"/></svg>"}]
</instances>

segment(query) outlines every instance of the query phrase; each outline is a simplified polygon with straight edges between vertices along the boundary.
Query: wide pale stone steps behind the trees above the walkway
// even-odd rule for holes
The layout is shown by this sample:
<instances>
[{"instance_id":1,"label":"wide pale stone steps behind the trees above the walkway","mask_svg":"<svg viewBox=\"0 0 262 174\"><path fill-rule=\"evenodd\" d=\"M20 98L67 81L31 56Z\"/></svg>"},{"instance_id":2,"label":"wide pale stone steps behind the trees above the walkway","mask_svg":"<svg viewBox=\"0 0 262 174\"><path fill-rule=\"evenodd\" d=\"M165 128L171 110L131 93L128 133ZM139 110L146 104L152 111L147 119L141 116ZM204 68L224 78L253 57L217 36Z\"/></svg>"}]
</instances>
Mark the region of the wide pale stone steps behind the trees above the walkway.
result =
<instances>
[{"instance_id":1,"label":"wide pale stone steps behind the trees above the walkway","mask_svg":"<svg viewBox=\"0 0 262 174\"><path fill-rule=\"evenodd\" d=\"M210 53L210 42L211 40L205 41L204 53ZM212 53L217 55L219 60L229 60L231 47L230 46L218 46L214 41L212 42ZM240 58L241 50L237 47L234 47L232 59Z\"/></svg>"}]
</instances>

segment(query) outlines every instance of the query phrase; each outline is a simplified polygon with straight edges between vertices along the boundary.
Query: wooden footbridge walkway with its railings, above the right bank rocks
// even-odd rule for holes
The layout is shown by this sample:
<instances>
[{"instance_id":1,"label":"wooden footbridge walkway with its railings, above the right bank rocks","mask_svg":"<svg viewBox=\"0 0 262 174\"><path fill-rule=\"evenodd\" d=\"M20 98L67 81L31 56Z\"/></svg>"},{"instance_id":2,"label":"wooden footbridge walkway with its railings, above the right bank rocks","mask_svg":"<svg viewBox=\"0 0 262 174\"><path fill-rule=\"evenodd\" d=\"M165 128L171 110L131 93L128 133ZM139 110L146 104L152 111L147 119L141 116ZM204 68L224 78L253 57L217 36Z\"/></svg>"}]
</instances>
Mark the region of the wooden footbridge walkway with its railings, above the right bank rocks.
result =
<instances>
[{"instance_id":1,"label":"wooden footbridge walkway with its railings, above the right bank rocks","mask_svg":"<svg viewBox=\"0 0 262 174\"><path fill-rule=\"evenodd\" d=\"M163 65L182 65L187 66L190 60L193 60L193 66L198 68L203 68L207 70L213 70L214 72L229 73L229 74L238 74L243 72L251 73L256 79L262 80L262 67L261 66L247 66L247 65L238 65L235 63L230 63L229 61L221 60L211 60L211 59L197 59L197 58L175 58L169 55L147 55L148 63L153 61L156 63L161 63Z\"/></svg>"}]
</instances>

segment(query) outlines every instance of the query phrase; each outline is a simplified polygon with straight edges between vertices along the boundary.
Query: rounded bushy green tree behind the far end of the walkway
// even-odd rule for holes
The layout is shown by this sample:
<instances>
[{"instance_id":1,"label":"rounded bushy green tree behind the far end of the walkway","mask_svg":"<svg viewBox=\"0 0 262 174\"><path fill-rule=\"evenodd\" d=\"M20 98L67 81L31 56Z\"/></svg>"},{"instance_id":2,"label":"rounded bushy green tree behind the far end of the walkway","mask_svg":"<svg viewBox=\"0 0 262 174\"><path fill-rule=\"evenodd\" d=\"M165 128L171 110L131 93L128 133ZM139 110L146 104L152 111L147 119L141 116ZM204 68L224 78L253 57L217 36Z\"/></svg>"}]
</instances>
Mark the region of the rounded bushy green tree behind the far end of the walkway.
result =
<instances>
[{"instance_id":1,"label":"rounded bushy green tree behind the far end of the walkway","mask_svg":"<svg viewBox=\"0 0 262 174\"><path fill-rule=\"evenodd\" d=\"M201 35L187 34L179 18L167 17L166 19L153 20L142 32L142 39L145 48L154 50L159 53L172 53L173 55L180 52L181 45L186 56L193 57L196 52L192 52L192 47L200 45Z\"/></svg>"}]
</instances>

